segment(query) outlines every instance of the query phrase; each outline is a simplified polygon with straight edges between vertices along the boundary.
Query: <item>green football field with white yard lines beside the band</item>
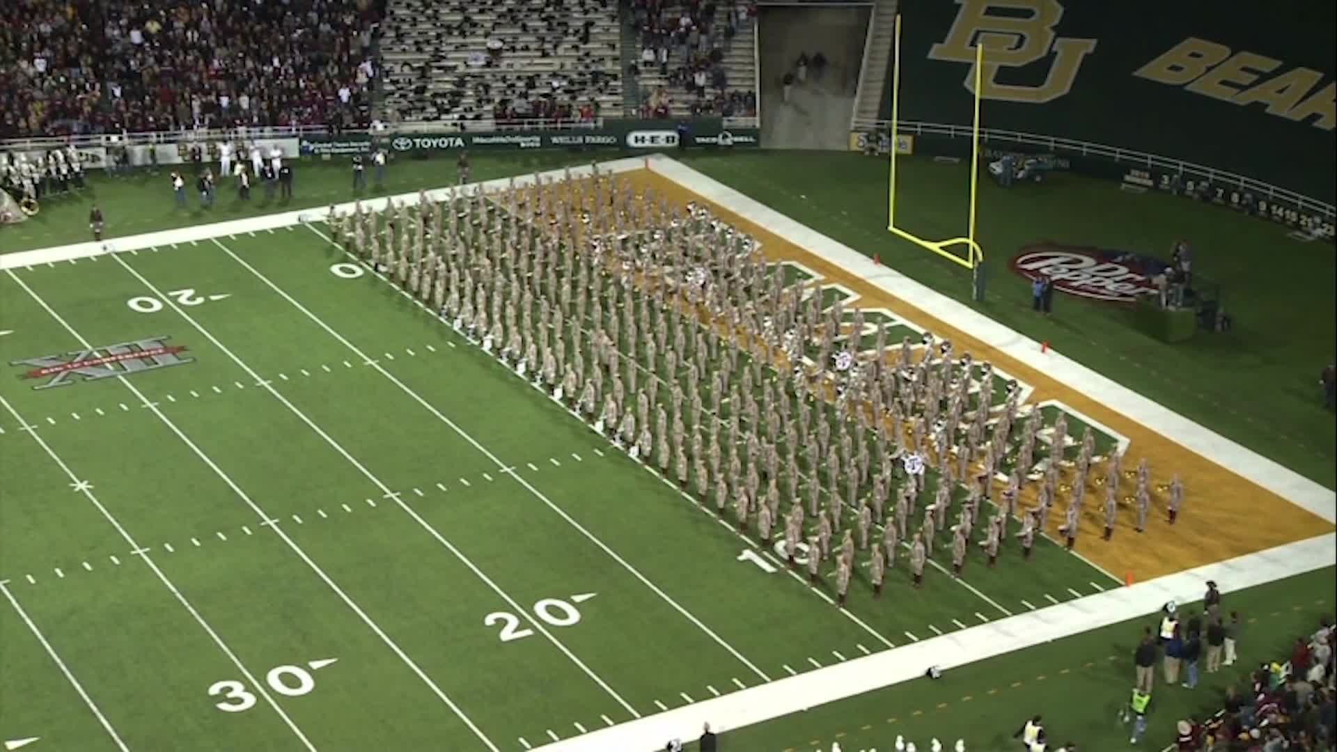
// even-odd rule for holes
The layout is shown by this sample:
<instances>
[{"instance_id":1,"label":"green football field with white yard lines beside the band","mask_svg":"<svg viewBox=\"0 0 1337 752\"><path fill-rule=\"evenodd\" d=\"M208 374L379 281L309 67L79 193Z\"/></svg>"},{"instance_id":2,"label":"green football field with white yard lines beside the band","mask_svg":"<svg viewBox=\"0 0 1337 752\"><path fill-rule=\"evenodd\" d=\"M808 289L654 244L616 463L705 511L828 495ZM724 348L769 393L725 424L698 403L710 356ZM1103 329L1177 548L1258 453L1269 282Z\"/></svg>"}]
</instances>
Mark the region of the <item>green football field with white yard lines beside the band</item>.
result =
<instances>
[{"instance_id":1,"label":"green football field with white yard lines beside the band","mask_svg":"<svg viewBox=\"0 0 1337 752\"><path fill-rule=\"evenodd\" d=\"M1122 585L941 546L837 609L308 219L0 274L0 740L529 749Z\"/></svg>"}]
</instances>

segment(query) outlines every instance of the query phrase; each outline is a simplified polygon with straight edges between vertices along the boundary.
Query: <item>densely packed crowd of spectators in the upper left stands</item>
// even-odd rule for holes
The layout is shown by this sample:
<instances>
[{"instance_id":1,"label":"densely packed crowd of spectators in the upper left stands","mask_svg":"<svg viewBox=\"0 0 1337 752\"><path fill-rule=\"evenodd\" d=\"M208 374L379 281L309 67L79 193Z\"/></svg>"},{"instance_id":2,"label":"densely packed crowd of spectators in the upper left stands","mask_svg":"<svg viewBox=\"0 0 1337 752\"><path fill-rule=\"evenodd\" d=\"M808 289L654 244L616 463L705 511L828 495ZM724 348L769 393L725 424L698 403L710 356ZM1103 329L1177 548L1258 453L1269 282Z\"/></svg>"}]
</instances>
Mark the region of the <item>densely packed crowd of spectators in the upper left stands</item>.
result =
<instances>
[{"instance_id":1,"label":"densely packed crowd of spectators in the upper left stands","mask_svg":"<svg viewBox=\"0 0 1337 752\"><path fill-rule=\"evenodd\" d=\"M366 124L384 0L5 0L0 136Z\"/></svg>"}]
</instances>

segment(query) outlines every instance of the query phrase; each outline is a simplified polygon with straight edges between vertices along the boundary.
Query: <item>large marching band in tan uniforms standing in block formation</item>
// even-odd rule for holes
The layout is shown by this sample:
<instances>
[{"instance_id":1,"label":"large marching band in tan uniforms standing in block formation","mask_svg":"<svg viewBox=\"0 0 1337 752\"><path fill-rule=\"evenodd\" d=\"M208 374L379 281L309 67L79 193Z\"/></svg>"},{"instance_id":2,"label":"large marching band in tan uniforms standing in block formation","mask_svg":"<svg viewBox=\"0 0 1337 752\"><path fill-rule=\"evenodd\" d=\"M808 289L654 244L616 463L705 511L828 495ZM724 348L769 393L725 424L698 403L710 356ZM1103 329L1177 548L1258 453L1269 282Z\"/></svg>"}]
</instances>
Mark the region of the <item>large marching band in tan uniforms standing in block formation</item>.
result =
<instances>
[{"instance_id":1,"label":"large marching band in tan uniforms standing in block formation","mask_svg":"<svg viewBox=\"0 0 1337 752\"><path fill-rule=\"evenodd\" d=\"M1071 442L1062 413L1046 447L1040 409L1015 383L995 399L988 363L932 335L892 345L886 324L792 284L702 206L595 171L328 221L364 264L814 583L830 562L840 605L857 551L877 597L897 558L919 587L936 546L955 577L972 541L993 566L1009 518L1023 559L1054 512L1074 547L1088 479L1104 488L1106 539L1120 506L1146 529L1144 459L1124 472L1118 451L1095 455L1090 427ZM1174 523L1183 486L1166 490Z\"/></svg>"}]
</instances>

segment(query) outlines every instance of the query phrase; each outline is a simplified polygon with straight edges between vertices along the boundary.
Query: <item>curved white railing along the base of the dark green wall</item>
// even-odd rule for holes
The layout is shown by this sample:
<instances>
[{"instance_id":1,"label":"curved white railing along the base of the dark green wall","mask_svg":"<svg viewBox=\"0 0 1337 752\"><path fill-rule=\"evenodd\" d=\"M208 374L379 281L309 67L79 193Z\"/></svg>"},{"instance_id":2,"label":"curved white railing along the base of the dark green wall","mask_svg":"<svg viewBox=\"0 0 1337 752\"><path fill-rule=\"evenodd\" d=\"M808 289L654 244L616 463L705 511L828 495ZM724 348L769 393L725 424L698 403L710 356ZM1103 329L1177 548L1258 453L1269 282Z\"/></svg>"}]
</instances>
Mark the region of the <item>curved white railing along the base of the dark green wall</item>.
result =
<instances>
[{"instance_id":1,"label":"curved white railing along the base of the dark green wall","mask_svg":"<svg viewBox=\"0 0 1337 752\"><path fill-rule=\"evenodd\" d=\"M856 118L853 126L856 131L880 131L889 128L890 120ZM901 120L897 126L897 132L902 135L912 134L912 135L933 135L933 136L968 139L971 138L971 126L951 126L944 123L921 123L913 120ZM1185 175L1197 175L1201 178L1206 178L1214 183L1233 185L1243 190L1257 193L1259 195L1266 195L1277 201L1289 202L1300 209L1313 211L1316 214L1322 214L1324 217L1328 217L1329 221L1332 221L1332 218L1337 215L1337 209L1334 209L1332 203L1309 198L1308 195L1302 195L1280 186L1265 183L1262 181L1255 181L1253 178L1247 178L1245 175L1239 175L1235 173L1227 173L1225 170L1217 170L1215 167L1195 165L1193 162L1185 162L1182 159L1173 159L1170 157L1161 157L1158 154L1147 154L1144 151L1134 151L1128 149L1119 149L1116 146L1091 143L1087 140L1076 140L1071 138L1058 138L1050 135L1004 131L997 128L980 128L980 138L988 142L1039 146L1054 153L1079 154L1083 157L1103 157L1114 159L1116 162L1124 162L1128 165L1142 165L1148 169L1170 170L1174 173L1182 173Z\"/></svg>"}]
</instances>

